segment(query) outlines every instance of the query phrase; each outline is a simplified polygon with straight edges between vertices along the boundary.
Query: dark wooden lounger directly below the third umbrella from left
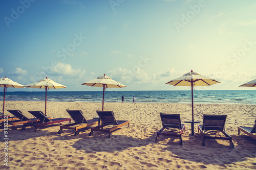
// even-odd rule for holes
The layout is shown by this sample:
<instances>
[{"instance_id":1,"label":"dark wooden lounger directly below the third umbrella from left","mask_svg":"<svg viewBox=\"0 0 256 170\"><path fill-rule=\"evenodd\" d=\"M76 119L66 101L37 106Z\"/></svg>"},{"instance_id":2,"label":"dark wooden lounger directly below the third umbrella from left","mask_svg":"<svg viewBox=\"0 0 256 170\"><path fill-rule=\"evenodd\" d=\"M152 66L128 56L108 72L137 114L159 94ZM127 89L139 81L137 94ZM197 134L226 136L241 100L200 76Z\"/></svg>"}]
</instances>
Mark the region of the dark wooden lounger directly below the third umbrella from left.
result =
<instances>
[{"instance_id":1,"label":"dark wooden lounger directly below the third umbrella from left","mask_svg":"<svg viewBox=\"0 0 256 170\"><path fill-rule=\"evenodd\" d=\"M130 126L130 120L116 120L113 111L96 111L96 112L99 115L99 118L101 120L101 125L97 127L93 127L89 134L90 136L93 135L93 131L101 131L101 132L108 132L109 138L110 138L113 131L127 124L128 124L128 127Z\"/></svg>"}]
</instances>

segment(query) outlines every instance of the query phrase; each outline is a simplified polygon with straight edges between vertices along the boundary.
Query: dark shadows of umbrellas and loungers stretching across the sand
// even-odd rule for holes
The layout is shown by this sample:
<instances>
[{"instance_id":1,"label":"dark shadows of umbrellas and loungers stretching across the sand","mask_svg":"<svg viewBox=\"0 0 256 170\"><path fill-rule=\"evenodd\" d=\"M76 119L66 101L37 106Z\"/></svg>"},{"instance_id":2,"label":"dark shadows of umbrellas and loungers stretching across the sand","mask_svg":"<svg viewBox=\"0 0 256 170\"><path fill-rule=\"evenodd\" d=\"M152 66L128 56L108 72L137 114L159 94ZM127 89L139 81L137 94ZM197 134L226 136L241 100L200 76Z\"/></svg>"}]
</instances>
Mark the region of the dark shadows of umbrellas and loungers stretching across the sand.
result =
<instances>
[{"instance_id":1,"label":"dark shadows of umbrellas and loungers stretching across the sand","mask_svg":"<svg viewBox=\"0 0 256 170\"><path fill-rule=\"evenodd\" d=\"M46 128L56 127L51 125ZM126 128L124 128L124 130L125 129ZM1 131L3 133L3 130ZM26 131L12 130L8 131L8 133L10 141L33 139L37 137L45 137L44 140L73 140L70 147L81 150L87 154L96 152L114 153L123 150L131 150L131 152L136 151L141 154L150 154L147 153L147 151L159 153L168 151L169 156L175 156L178 159L197 163L202 162L205 165L219 165L223 168L228 168L228 164L242 162L256 156L256 140L246 135L233 135L232 140L235 147L232 149L229 147L228 141L212 139L206 139L206 145L203 147L202 137L197 133L194 136L190 136L188 133L184 134L183 145L179 144L178 138L168 138L166 136L161 136L159 142L155 143L156 133L152 133L151 136L145 136L143 139L139 136L135 138L134 136L136 136L136 134L134 133L121 135L122 132L118 134L114 132L111 138L108 138L108 134L101 132L95 132L94 136L89 136L90 129L81 132L77 136L74 136L74 131L71 130L57 134L57 131L49 132L47 129L34 132L34 128L28 128ZM20 135L20 133L22 133L22 135ZM127 134L127 132L125 132L125 134ZM144 149L143 147L150 148ZM249 162L249 164L250 168L256 168L256 163Z\"/></svg>"}]
</instances>

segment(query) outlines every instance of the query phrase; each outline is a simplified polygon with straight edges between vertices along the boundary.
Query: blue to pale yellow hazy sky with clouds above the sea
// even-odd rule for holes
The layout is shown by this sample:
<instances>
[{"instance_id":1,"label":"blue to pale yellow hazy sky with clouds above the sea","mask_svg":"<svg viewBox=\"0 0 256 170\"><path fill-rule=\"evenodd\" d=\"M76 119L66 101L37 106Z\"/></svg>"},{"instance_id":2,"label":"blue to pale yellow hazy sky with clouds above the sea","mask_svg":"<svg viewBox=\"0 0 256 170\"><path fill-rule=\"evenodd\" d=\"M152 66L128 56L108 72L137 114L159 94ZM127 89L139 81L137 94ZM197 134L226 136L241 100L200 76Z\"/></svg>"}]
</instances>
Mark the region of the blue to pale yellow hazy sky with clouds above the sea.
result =
<instances>
[{"instance_id":1,"label":"blue to pale yellow hazy sky with clouds above the sea","mask_svg":"<svg viewBox=\"0 0 256 170\"><path fill-rule=\"evenodd\" d=\"M256 79L255 16L252 0L1 0L0 77L97 91L81 84L105 74L118 90L190 90L165 83L192 69L221 82L196 90L251 90L238 86Z\"/></svg>"}]
</instances>

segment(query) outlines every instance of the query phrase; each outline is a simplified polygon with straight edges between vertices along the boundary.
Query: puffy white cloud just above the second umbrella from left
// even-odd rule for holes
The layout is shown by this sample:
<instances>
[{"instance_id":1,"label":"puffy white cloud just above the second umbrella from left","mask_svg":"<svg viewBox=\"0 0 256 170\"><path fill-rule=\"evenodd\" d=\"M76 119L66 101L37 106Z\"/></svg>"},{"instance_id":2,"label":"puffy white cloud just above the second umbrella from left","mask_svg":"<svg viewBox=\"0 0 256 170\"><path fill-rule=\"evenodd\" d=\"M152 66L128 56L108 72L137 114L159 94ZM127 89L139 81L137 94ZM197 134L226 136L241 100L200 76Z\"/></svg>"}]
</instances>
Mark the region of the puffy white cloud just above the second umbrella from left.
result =
<instances>
[{"instance_id":1,"label":"puffy white cloud just above the second umbrella from left","mask_svg":"<svg viewBox=\"0 0 256 170\"><path fill-rule=\"evenodd\" d=\"M52 68L52 75L56 75L56 76L69 76L69 77L81 78L85 72L86 70L84 69L81 69L81 68L74 69L70 64L65 64L61 62L58 62Z\"/></svg>"}]
</instances>

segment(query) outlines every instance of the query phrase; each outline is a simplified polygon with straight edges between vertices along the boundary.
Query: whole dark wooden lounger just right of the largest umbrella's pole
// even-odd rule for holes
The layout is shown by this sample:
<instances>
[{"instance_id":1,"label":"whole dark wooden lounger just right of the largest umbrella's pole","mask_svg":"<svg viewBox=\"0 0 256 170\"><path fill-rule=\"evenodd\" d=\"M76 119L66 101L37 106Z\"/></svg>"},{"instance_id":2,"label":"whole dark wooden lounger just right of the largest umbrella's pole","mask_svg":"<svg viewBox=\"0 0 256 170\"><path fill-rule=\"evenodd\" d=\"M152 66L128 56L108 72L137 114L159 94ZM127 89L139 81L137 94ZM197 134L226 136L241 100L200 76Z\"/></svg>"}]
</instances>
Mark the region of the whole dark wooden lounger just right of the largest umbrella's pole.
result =
<instances>
[{"instance_id":1,"label":"whole dark wooden lounger just right of the largest umbrella's pole","mask_svg":"<svg viewBox=\"0 0 256 170\"><path fill-rule=\"evenodd\" d=\"M203 146L205 145L205 139L221 139L229 140L229 145L234 148L232 137L225 132L225 123L227 115L203 115L203 125L198 125L198 132L203 135ZM221 132L222 136L217 136L217 133Z\"/></svg>"}]
</instances>

